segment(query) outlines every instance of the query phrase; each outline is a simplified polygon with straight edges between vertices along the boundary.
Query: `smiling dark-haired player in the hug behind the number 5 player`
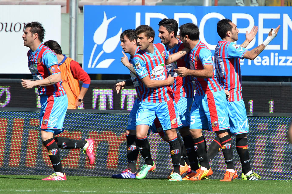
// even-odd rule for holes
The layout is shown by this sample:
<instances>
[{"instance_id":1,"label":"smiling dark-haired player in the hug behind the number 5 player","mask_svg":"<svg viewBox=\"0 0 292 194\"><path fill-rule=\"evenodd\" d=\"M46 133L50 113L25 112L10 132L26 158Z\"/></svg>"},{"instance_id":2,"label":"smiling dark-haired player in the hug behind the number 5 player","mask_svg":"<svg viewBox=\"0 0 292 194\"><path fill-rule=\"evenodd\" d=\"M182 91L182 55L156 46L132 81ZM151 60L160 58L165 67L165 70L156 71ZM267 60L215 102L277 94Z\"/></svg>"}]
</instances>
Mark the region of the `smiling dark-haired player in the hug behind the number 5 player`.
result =
<instances>
[{"instance_id":1,"label":"smiling dark-haired player in the hug behind the number 5 player","mask_svg":"<svg viewBox=\"0 0 292 194\"><path fill-rule=\"evenodd\" d=\"M182 42L178 38L176 38L179 28L176 20L164 18L159 22L158 25L158 37L165 45L166 50L169 54L179 52L180 50L185 48ZM172 85L172 91L183 126L181 129L179 129L179 132L183 138L183 142L181 141L182 159L180 165L180 175L182 175L184 172L188 172L182 180L189 180L191 176L194 176L196 174L196 170L199 169L196 152L192 143L192 137L189 133L189 114L190 107L193 103L194 98L192 81L193 78L191 76L177 76L177 73L174 70L177 67L187 67L189 69L188 55L183 56L176 62L172 62L171 64L166 65L166 68L167 74L175 78ZM184 159L186 160L186 165L182 165L185 163ZM189 168L191 169L190 171Z\"/></svg>"}]
</instances>

